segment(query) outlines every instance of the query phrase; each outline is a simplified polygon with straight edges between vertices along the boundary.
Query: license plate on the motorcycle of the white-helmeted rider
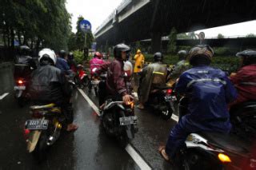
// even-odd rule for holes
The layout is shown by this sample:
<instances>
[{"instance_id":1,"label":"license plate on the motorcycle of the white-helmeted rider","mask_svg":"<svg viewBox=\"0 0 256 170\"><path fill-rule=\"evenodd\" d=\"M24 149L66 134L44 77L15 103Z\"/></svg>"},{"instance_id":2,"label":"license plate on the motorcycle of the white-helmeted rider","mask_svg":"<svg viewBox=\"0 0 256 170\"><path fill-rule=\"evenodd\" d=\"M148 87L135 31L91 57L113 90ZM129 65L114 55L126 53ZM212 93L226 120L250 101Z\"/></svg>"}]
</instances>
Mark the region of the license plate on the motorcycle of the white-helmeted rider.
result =
<instances>
[{"instance_id":1,"label":"license plate on the motorcycle of the white-helmeted rider","mask_svg":"<svg viewBox=\"0 0 256 170\"><path fill-rule=\"evenodd\" d=\"M29 120L26 121L26 128L30 130L44 130L48 127L48 120Z\"/></svg>"}]
</instances>

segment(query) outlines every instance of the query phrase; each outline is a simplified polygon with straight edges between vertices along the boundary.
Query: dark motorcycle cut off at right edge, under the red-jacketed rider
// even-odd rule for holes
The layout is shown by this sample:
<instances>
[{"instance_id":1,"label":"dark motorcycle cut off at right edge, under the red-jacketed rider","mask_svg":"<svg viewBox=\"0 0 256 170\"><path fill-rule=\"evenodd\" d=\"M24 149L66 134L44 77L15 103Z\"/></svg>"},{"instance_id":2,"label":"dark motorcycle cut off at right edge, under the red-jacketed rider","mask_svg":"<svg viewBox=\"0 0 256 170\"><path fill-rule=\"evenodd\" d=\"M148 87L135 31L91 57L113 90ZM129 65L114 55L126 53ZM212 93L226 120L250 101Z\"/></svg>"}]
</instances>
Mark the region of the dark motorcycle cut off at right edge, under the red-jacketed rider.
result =
<instances>
[{"instance_id":1,"label":"dark motorcycle cut off at right edge, under the red-jacketed rider","mask_svg":"<svg viewBox=\"0 0 256 170\"><path fill-rule=\"evenodd\" d=\"M256 101L246 101L230 108L234 134L253 140L256 136Z\"/></svg>"}]
</instances>

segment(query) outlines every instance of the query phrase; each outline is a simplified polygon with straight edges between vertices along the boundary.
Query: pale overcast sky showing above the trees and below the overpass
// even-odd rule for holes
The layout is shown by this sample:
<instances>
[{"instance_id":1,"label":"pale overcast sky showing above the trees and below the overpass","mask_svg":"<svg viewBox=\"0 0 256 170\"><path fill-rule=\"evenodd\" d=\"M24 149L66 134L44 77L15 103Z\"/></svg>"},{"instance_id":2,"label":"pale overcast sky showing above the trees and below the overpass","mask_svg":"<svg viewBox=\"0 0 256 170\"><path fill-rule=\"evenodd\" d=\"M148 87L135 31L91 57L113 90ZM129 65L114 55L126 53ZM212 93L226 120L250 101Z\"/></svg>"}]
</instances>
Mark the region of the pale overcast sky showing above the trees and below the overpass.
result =
<instances>
[{"instance_id":1,"label":"pale overcast sky showing above the trees and below the overpass","mask_svg":"<svg viewBox=\"0 0 256 170\"><path fill-rule=\"evenodd\" d=\"M72 14L73 32L76 32L75 27L79 15L90 21L94 32L122 0L67 0L66 2L68 12ZM196 33L200 31L198 30ZM220 26L203 31L206 37L216 37L218 34L223 34L224 36L256 34L256 21Z\"/></svg>"}]
</instances>

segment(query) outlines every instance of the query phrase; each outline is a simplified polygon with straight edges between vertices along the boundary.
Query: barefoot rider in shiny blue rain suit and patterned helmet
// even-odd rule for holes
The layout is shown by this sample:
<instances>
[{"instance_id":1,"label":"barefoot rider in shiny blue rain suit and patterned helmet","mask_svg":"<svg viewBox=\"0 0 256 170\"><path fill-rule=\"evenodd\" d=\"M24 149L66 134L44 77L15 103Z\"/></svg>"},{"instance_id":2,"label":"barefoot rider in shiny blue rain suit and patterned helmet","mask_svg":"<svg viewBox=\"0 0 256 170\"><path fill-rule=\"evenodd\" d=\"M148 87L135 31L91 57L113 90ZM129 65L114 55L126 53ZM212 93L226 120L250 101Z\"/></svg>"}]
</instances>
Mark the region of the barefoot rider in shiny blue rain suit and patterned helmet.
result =
<instances>
[{"instance_id":1,"label":"barefoot rider in shiny blue rain suit and patterned helmet","mask_svg":"<svg viewBox=\"0 0 256 170\"><path fill-rule=\"evenodd\" d=\"M176 151L185 145L191 132L230 132L227 105L237 93L226 73L210 67L213 55L209 45L197 45L190 50L188 58L193 68L182 73L174 89L189 97L188 109L171 129L166 147L159 147L165 160L174 160Z\"/></svg>"}]
</instances>

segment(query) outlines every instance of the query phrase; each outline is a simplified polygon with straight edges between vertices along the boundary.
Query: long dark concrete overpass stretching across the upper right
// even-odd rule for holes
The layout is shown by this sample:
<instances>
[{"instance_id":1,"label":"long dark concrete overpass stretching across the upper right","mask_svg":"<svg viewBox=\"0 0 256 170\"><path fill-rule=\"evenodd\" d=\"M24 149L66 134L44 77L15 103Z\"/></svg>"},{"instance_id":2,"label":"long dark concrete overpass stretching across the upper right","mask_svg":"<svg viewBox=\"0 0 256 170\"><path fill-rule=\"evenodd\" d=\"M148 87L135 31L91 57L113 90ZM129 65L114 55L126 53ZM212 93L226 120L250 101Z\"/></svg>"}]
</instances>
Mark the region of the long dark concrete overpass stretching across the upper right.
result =
<instances>
[{"instance_id":1,"label":"long dark concrete overpass stretching across the upper right","mask_svg":"<svg viewBox=\"0 0 256 170\"><path fill-rule=\"evenodd\" d=\"M124 0L94 32L98 45L152 39L152 49L172 27L178 33L256 19L256 1Z\"/></svg>"}]
</instances>

